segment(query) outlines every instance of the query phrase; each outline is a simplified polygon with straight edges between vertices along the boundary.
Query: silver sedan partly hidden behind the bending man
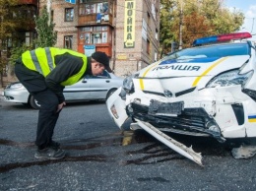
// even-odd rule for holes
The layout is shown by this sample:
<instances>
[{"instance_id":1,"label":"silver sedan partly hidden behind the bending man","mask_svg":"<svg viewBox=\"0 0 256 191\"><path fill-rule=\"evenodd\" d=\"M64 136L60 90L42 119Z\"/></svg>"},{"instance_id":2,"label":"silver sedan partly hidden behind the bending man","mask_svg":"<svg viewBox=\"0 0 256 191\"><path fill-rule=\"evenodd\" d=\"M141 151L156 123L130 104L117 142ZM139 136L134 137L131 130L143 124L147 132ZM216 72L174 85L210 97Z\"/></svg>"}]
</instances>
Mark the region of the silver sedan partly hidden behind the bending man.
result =
<instances>
[{"instance_id":1,"label":"silver sedan partly hidden behind the bending man","mask_svg":"<svg viewBox=\"0 0 256 191\"><path fill-rule=\"evenodd\" d=\"M66 101L82 101L106 99L122 86L123 79L106 71L100 76L87 75L80 82L67 86L63 93ZM38 109L40 104L34 99L27 89L20 83L11 83L3 92L6 101L30 104Z\"/></svg>"}]
</instances>

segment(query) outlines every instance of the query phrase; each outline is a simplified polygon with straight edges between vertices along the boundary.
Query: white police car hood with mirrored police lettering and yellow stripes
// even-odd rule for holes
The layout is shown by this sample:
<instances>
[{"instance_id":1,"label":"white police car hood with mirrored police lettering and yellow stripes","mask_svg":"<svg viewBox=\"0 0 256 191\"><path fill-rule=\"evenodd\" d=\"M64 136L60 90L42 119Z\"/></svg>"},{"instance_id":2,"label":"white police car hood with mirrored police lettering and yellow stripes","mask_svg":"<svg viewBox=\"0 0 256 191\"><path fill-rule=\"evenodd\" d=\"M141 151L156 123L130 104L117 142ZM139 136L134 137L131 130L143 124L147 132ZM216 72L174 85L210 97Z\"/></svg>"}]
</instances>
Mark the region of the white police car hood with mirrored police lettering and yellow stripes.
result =
<instances>
[{"instance_id":1,"label":"white police car hood with mirrored police lettering and yellow stripes","mask_svg":"<svg viewBox=\"0 0 256 191\"><path fill-rule=\"evenodd\" d=\"M203 88L213 77L224 71L240 68L248 59L249 55L165 58L141 70L138 79L141 89L145 91L156 90L157 84L161 87L157 92L173 87L174 92L196 86Z\"/></svg>"}]
</instances>

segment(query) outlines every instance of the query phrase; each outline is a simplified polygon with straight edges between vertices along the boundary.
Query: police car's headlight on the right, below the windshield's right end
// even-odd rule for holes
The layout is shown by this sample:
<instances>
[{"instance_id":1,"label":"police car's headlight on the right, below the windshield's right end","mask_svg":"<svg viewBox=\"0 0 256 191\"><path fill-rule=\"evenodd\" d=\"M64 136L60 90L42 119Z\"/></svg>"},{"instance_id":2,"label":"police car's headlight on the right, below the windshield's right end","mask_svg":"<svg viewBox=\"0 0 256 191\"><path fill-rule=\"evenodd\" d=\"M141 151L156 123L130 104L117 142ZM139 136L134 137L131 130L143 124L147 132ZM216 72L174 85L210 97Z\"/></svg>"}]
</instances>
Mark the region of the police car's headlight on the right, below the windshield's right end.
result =
<instances>
[{"instance_id":1,"label":"police car's headlight on the right, below the windshield's right end","mask_svg":"<svg viewBox=\"0 0 256 191\"><path fill-rule=\"evenodd\" d=\"M241 85L243 88L246 82L251 79L252 75L253 71L249 71L245 74L239 74L239 70L232 70L216 76L207 84L206 87L216 88Z\"/></svg>"}]
</instances>

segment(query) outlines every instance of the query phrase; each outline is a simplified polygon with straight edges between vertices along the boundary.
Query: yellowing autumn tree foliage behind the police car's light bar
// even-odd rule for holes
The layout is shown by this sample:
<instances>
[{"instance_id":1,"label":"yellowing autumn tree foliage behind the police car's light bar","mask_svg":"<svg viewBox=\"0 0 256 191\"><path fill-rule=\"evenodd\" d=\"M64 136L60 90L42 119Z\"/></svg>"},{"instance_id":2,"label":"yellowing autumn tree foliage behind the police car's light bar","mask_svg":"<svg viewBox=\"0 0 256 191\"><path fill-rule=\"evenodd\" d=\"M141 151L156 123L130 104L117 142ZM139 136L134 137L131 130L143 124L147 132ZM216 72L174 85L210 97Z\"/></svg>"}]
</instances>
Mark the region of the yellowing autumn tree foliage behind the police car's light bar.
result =
<instances>
[{"instance_id":1,"label":"yellowing autumn tree foliage behind the police car's light bar","mask_svg":"<svg viewBox=\"0 0 256 191\"><path fill-rule=\"evenodd\" d=\"M184 48L198 37L236 32L244 20L241 12L225 8L223 0L160 0L160 4L163 53L170 51L173 41L179 43L181 39Z\"/></svg>"}]
</instances>

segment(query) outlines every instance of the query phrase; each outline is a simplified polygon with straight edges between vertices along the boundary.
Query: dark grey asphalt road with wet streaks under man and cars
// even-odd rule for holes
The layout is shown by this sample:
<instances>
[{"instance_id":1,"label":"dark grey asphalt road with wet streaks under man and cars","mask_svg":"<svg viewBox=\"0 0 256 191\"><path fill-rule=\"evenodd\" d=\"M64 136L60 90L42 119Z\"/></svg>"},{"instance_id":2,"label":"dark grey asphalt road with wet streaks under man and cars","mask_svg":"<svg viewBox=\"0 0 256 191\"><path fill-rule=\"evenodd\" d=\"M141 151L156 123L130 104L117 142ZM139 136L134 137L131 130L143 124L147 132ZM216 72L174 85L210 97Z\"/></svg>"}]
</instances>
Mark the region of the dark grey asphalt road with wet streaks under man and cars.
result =
<instances>
[{"instance_id":1,"label":"dark grey asphalt road with wet streaks under man and cars","mask_svg":"<svg viewBox=\"0 0 256 191\"><path fill-rule=\"evenodd\" d=\"M237 143L171 135L201 152L204 167L144 131L121 132L104 102L69 103L54 140L65 159L37 160L37 111L0 100L0 190L256 190L256 157L233 159Z\"/></svg>"}]
</instances>

